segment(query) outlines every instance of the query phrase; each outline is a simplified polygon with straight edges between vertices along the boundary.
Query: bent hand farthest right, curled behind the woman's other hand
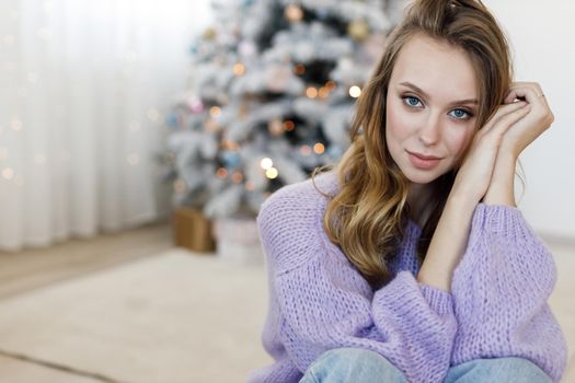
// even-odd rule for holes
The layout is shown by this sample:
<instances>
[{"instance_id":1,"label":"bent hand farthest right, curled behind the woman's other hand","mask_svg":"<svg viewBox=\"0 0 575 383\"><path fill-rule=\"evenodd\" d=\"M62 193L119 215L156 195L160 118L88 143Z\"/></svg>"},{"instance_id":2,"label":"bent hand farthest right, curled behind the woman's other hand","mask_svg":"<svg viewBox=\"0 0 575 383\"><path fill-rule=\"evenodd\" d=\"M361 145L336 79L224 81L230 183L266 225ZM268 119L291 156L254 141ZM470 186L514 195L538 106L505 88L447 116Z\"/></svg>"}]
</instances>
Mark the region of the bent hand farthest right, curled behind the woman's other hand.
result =
<instances>
[{"instance_id":1,"label":"bent hand farthest right, curled behind the woman's other hand","mask_svg":"<svg viewBox=\"0 0 575 383\"><path fill-rule=\"evenodd\" d=\"M554 120L541 86L537 82L514 82L504 104L510 104L516 98L525 100L531 107L530 112L514 124L502 141L502 151L510 153L515 159L545 131Z\"/></svg>"}]
</instances>

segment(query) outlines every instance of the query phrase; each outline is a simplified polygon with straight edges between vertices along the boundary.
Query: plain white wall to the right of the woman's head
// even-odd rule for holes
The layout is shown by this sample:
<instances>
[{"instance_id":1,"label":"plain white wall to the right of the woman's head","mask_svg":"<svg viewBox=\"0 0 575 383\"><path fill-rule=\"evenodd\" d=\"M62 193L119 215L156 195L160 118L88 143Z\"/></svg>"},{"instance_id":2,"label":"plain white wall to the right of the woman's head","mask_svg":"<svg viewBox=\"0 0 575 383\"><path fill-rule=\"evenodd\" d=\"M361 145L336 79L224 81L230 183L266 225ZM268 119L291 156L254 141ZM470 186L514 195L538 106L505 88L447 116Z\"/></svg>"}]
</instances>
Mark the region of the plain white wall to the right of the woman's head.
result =
<instances>
[{"instance_id":1,"label":"plain white wall to the right of the woman's head","mask_svg":"<svg viewBox=\"0 0 575 383\"><path fill-rule=\"evenodd\" d=\"M519 207L541 234L575 240L575 2L484 3L511 42L516 80L539 82L555 115L551 129L521 155L527 189Z\"/></svg>"}]
</instances>

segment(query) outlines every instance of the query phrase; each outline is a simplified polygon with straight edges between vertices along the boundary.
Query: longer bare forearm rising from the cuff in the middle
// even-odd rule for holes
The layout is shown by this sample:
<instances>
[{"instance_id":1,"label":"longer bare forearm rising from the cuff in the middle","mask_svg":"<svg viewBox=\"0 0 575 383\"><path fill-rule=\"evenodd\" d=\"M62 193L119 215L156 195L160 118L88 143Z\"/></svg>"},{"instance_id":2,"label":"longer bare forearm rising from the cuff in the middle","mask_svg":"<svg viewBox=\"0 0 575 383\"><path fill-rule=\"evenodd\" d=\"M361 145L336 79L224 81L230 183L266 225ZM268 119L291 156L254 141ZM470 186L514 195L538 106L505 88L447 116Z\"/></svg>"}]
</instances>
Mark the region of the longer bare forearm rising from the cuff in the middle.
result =
<instances>
[{"instance_id":1,"label":"longer bare forearm rising from the cuff in the middle","mask_svg":"<svg viewBox=\"0 0 575 383\"><path fill-rule=\"evenodd\" d=\"M453 270L465 251L475 206L462 195L449 196L417 275L419 282L450 291Z\"/></svg>"}]
</instances>

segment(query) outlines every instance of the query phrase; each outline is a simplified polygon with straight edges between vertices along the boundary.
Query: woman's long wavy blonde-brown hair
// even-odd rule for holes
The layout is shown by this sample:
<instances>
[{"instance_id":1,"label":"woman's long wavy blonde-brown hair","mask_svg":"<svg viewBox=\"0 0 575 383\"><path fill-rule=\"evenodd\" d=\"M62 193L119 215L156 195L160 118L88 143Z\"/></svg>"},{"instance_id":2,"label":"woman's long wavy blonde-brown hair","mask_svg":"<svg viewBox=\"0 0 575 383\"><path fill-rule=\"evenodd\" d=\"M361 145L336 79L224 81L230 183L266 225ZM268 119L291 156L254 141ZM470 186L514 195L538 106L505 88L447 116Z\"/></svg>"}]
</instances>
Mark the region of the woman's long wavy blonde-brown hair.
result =
<instances>
[{"instance_id":1,"label":"woman's long wavy blonde-brown hair","mask_svg":"<svg viewBox=\"0 0 575 383\"><path fill-rule=\"evenodd\" d=\"M357 102L350 129L352 146L336 167L340 190L330 199L323 217L330 240L373 288L391 278L387 264L401 244L410 209L409 183L386 144L386 96L398 55L417 33L467 53L480 88L476 128L503 103L513 78L505 35L480 0L416 0L406 8L402 23L388 38L383 55ZM434 182L432 214L422 228L417 245L419 263L458 167L459 164ZM313 176L315 174L318 172Z\"/></svg>"}]
</instances>

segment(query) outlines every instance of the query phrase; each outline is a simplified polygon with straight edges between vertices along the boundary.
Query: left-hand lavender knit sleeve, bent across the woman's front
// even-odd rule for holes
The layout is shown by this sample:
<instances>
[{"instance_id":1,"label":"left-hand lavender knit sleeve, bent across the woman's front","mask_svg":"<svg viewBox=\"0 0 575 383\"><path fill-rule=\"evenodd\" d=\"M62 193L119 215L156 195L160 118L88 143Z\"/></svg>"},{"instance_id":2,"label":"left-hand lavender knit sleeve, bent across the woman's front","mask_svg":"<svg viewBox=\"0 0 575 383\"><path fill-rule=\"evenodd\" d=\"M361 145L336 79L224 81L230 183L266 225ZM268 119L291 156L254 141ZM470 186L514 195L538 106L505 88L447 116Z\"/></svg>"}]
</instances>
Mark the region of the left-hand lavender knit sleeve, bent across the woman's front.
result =
<instances>
[{"instance_id":1,"label":"left-hand lavender knit sleeve, bent across the woman's front","mask_svg":"<svg viewBox=\"0 0 575 383\"><path fill-rule=\"evenodd\" d=\"M409 271L373 292L327 240L318 214L325 201L280 192L257 223L273 293L263 340L286 376L286 359L301 376L322 352L354 347L379 352L410 381L442 381L456 333L451 295Z\"/></svg>"}]
</instances>

